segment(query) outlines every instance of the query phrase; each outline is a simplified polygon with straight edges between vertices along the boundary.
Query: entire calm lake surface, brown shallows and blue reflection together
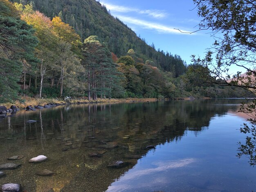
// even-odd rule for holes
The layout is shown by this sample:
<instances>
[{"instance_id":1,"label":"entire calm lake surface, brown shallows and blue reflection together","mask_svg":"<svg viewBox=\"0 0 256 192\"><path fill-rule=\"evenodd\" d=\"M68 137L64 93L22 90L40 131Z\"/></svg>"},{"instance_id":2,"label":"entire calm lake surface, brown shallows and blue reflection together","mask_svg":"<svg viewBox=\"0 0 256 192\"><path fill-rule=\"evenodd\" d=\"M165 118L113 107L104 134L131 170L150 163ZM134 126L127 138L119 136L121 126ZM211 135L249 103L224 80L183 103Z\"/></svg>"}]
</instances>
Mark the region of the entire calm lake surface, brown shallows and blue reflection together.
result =
<instances>
[{"instance_id":1,"label":"entire calm lake surface, brown shallows and blue reflection together","mask_svg":"<svg viewBox=\"0 0 256 192\"><path fill-rule=\"evenodd\" d=\"M70 105L0 120L0 164L24 155L4 183L26 192L256 191L255 167L236 157L241 100ZM28 124L26 121L36 120ZM146 149L155 145L155 149ZM115 147L115 148L114 148ZM93 154L100 157L91 157ZM29 163L38 155L48 157ZM121 167L108 167L123 161ZM53 176L38 176L39 171Z\"/></svg>"}]
</instances>

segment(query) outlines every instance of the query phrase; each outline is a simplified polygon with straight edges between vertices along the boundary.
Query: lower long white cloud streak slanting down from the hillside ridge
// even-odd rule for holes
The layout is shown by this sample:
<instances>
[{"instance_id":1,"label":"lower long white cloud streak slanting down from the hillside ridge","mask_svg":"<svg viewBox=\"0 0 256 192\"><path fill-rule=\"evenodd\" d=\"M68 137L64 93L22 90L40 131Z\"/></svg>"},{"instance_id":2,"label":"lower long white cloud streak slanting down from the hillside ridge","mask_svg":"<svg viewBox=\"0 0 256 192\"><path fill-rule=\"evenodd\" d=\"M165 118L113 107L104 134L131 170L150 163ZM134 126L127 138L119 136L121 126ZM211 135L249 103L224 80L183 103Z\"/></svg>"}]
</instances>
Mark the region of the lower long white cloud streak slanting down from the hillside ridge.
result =
<instances>
[{"instance_id":1,"label":"lower long white cloud streak slanting down from the hillside ridge","mask_svg":"<svg viewBox=\"0 0 256 192\"><path fill-rule=\"evenodd\" d=\"M117 16L117 17L120 20L124 21L124 22L128 22L128 23L133 24L133 25L138 25L138 26L140 26L144 29L154 29L154 30L156 30L160 33L176 33L176 34L190 33L190 31L186 31L186 30L183 30L183 29L181 29L181 30L185 33L181 33L177 29L174 29L174 27L165 26L165 25L155 23L155 22L148 22L148 21L145 21L145 20L140 20L140 19L127 17L127 16Z\"/></svg>"}]
</instances>

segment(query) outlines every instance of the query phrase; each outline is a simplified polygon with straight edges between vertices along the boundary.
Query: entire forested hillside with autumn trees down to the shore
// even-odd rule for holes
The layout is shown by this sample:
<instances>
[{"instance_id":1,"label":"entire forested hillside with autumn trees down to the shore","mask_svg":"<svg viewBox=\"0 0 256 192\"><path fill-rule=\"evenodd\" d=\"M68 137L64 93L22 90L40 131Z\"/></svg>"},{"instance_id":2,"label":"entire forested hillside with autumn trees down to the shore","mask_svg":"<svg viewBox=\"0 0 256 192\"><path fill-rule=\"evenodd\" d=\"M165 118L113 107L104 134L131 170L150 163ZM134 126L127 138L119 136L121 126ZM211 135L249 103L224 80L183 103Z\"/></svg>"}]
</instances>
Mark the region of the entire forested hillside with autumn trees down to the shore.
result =
<instances>
[{"instance_id":1,"label":"entire forested hillside with autumn trees down to the shore","mask_svg":"<svg viewBox=\"0 0 256 192\"><path fill-rule=\"evenodd\" d=\"M22 3L0 0L0 102L247 94L206 84L209 71L155 51L95 0Z\"/></svg>"}]
</instances>

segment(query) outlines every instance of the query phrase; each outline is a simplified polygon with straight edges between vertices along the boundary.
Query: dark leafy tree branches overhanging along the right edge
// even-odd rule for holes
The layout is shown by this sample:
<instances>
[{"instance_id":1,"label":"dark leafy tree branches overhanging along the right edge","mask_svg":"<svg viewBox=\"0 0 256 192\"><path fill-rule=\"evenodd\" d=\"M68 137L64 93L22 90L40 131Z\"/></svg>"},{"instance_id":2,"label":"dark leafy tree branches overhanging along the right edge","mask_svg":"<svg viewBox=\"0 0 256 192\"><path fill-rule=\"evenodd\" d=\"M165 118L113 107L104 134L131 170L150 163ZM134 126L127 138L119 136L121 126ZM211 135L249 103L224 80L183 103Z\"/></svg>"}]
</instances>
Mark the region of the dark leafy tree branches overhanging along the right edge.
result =
<instances>
[{"instance_id":1,"label":"dark leafy tree branches overhanging along the right edge","mask_svg":"<svg viewBox=\"0 0 256 192\"><path fill-rule=\"evenodd\" d=\"M193 0L198 7L198 15L202 16L200 29L210 29L216 38L213 49L208 51L203 59L193 61L208 67L212 82L219 85L235 86L256 91L256 1L254 0ZM213 60L213 54L215 59ZM245 69L233 76L229 74L230 66ZM228 80L229 79L229 80ZM238 157L249 156L250 164L256 165L255 126L256 100L243 103L240 112L249 114L247 119L251 125L245 123L240 129L243 133L252 133L247 136L245 145L240 144Z\"/></svg>"}]
</instances>

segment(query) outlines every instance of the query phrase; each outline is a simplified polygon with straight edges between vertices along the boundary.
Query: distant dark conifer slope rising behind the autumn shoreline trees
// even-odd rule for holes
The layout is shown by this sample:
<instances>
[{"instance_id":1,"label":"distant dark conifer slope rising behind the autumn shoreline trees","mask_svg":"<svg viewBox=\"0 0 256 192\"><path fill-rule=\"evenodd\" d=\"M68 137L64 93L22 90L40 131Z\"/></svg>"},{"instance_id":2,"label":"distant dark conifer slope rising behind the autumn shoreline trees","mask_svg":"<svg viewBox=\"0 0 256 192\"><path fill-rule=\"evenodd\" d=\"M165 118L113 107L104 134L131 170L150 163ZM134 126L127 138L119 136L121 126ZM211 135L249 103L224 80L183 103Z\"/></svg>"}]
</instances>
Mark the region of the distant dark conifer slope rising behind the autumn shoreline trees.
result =
<instances>
[{"instance_id":1,"label":"distant dark conifer slope rising behind the autumn shoreline trees","mask_svg":"<svg viewBox=\"0 0 256 192\"><path fill-rule=\"evenodd\" d=\"M81 41L89 36L98 36L108 49L118 57L134 49L139 58L153 61L153 65L178 77L186 71L182 58L164 51L156 51L154 45L147 45L144 39L128 28L118 18L111 16L106 7L95 0L12 0L12 2L34 3L34 9L53 18L60 16L68 23Z\"/></svg>"}]
</instances>

